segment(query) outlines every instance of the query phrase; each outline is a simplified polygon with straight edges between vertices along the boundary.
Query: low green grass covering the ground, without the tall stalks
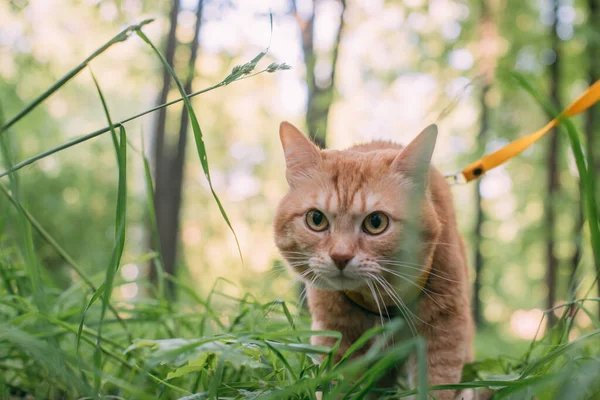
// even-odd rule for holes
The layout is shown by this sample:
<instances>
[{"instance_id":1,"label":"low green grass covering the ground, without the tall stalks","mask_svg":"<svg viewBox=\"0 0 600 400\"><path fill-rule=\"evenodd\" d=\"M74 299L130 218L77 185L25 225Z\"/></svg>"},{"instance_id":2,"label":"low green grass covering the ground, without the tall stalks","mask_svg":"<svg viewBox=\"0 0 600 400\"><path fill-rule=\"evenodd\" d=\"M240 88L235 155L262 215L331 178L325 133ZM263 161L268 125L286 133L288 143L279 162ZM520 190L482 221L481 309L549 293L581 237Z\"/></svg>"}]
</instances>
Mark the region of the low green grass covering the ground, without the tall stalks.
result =
<instances>
[{"instance_id":1,"label":"low green grass covering the ground, without the tall stalks","mask_svg":"<svg viewBox=\"0 0 600 400\"><path fill-rule=\"evenodd\" d=\"M99 377L101 395L124 398L312 399L317 390L329 392L328 398L340 394L363 398L375 390L372 386L379 376L415 350L424 360L420 338L385 346L388 335L402 328L403 322L396 320L367 332L334 363L331 349L307 341L313 335L339 338L339 333L308 330L308 316L298 311L292 317L284 302L261 304L249 301L248 296L232 298L217 287L209 294L212 303L191 298L169 308L152 298L140 299L134 307L117 303L127 330L114 318L103 320L101 309L94 307L86 317L77 354L77 327L89 290L81 284L64 292L48 287L51 307L42 313L23 263L9 259L4 265L5 289L19 294L6 293L0 300L6 321L0 330L0 368L4 390L12 394L50 399L91 396L95 392L92 382ZM145 284L143 280L137 283ZM115 281L115 287L122 284ZM565 309L577 312L598 300L582 299ZM440 388L490 386L499 390L497 398L535 394L542 399L564 398L555 393L568 389L569 398L591 398L600 390L594 379L600 361L600 329L569 340L570 322L572 317L563 316L522 358L476 362L465 368L464 383ZM600 326L600 321L595 323ZM131 341L129 335L137 339ZM351 357L372 340L375 344L364 356ZM101 365L92 361L96 351L102 354ZM319 355L325 356L323 362ZM411 393L397 388L380 394L399 398Z\"/></svg>"}]
</instances>

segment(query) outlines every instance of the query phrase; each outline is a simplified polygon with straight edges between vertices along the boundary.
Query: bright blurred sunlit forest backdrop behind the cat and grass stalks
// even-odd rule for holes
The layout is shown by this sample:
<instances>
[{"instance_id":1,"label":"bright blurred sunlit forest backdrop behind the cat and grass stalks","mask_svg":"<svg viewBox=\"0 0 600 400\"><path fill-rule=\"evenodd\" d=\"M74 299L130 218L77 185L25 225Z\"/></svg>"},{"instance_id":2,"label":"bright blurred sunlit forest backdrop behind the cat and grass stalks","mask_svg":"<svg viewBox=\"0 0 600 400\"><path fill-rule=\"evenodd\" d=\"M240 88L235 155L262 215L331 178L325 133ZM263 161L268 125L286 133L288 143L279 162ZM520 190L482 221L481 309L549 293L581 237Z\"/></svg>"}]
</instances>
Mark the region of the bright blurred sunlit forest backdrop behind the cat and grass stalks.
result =
<instances>
[{"instance_id":1,"label":"bright blurred sunlit forest backdrop behind the cat and grass stalks","mask_svg":"<svg viewBox=\"0 0 600 400\"><path fill-rule=\"evenodd\" d=\"M217 277L224 277L231 284L219 283L222 290L235 295L250 292L262 301L294 300L299 295L290 275L277 272L282 264L271 228L275 206L286 190L280 121L289 120L305 132L313 128L312 136L336 149L372 139L406 143L435 122L440 135L434 162L442 172L454 173L484 152L547 122L540 105L511 80L509 72L525 74L548 101L555 91L564 106L589 85L590 38L600 34L590 23L588 2L579 0L556 4L550 0L203 3L192 91L220 82L234 66L267 47L268 54L256 71L272 62L292 68L262 73L193 99L214 189L239 239L243 263L212 198L190 129L176 273L200 294L208 292ZM188 75L197 4L182 0L177 13L174 66L182 81ZM144 32L165 52L172 6L156 0L1 1L4 117L15 115L126 25L155 18ZM312 33L308 53L303 31ZM90 67L114 121L158 104L162 67L135 35L94 59ZM311 90L320 97L312 98ZM171 84L167 99L178 97L177 87ZM311 103L321 113L314 127L306 123ZM181 103L168 110L165 148L173 149L180 131ZM135 148L141 150L144 138L153 166L156 116L126 124ZM575 119L577 126L587 127L586 118ZM13 162L22 161L106 125L90 71L85 69L12 128L10 156ZM595 135L599 133L600 123L596 123ZM486 337L497 346L532 339L542 310L549 308L549 228L544 205L549 196L555 199L555 225L550 229L557 276L551 288L554 303L566 298L579 258L582 291L592 283L590 251L581 247L587 232L578 222L577 170L566 150L566 138L561 136L558 143L554 161L549 161L550 139L545 138L490 172L480 185L452 189L471 265L478 263L480 268L476 303L482 343ZM548 165L554 165L560 182L551 195ZM129 153L128 169L128 237L120 269L125 283L117 293L135 301L149 295L146 278L153 250L143 160L134 151ZM101 282L113 240L118 178L110 134L47 157L19 175L31 212ZM0 207L7 204L0 200ZM53 279L65 285L75 279L50 247L42 241L37 245ZM474 268L471 278L475 280ZM577 318L581 327L590 323L585 313ZM496 348L480 346L480 352Z\"/></svg>"}]
</instances>

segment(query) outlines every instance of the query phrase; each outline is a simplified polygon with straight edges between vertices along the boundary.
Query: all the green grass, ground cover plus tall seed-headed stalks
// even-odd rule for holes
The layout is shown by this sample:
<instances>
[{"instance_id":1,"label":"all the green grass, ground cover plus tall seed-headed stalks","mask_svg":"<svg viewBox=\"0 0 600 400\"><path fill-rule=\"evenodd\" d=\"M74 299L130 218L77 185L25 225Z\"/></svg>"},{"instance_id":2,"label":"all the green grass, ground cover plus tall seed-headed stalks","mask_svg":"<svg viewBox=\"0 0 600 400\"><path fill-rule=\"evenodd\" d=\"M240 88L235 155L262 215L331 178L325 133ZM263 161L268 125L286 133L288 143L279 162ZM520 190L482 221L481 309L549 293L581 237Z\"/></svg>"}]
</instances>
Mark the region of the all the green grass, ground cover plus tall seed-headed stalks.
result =
<instances>
[{"instance_id":1,"label":"all the green grass, ground cover plus tall seed-headed stalks","mask_svg":"<svg viewBox=\"0 0 600 400\"><path fill-rule=\"evenodd\" d=\"M386 345L390 335L403 328L401 320L367 332L335 363L332 358L335 348L313 346L309 342L313 335L339 339L340 334L311 331L309 317L296 304L280 300L261 303L251 293L232 297L223 290L230 285L224 279L215 282L206 297L199 296L177 277L164 273L160 251L147 255L157 268L158 284L154 286L145 278L136 281L147 295L130 303L112 296L114 289L125 284L117 271L126 232L128 147L139 155L136 160L144 166L147 207L156 236L148 160L143 148L139 151L129 144L125 124L173 102L113 123L100 83L94 78L108 120L106 128L15 165L9 160L6 139L14 123L59 90L91 58L126 39L131 32L137 32L164 63L158 50L141 32L142 25L127 28L126 34L107 42L8 123L0 120L6 167L0 177L8 178L8 182L0 182L0 191L10 205L9 209L0 210L0 398L33 395L39 399L315 399L316 391L332 399L362 399L368 394L402 398L417 390L398 386L382 391L375 389L374 384L388 369L411 355L416 355L419 365L418 397L427 398L426 347L422 338ZM234 68L222 82L196 94L251 76L264 54ZM286 68L285 64L272 64L258 73ZM173 70L169 70L178 82ZM185 102L199 160L210 178L202 131L189 102L191 95L183 93L180 84L178 87L182 92L178 101ZM529 89L536 93L531 86ZM572 125L567 125L567 129L582 177L591 241L597 243L597 224L593 225L597 222L593 177L585 169L585 152L577 131ZM17 171L107 132L113 137L118 166L114 241L104 276L90 277L24 205ZM219 203L214 191L213 195ZM219 207L229 224L220 203ZM9 231L8 224L17 229ZM52 282L51 271L38 257L34 237L46 242L77 276L66 290ZM594 245L590 243L590 246ZM180 293L177 302L165 298L166 281L172 281ZM478 360L465 367L462 383L437 388L491 387L496 390L495 399L529 399L534 395L540 399L600 397L597 379L600 375L600 321L589 309L598 301L598 298L573 299L558 308L562 312L558 322L518 357ZM586 313L591 325L575 327L577 313ZM352 357L368 342L373 345L363 356Z\"/></svg>"}]
</instances>

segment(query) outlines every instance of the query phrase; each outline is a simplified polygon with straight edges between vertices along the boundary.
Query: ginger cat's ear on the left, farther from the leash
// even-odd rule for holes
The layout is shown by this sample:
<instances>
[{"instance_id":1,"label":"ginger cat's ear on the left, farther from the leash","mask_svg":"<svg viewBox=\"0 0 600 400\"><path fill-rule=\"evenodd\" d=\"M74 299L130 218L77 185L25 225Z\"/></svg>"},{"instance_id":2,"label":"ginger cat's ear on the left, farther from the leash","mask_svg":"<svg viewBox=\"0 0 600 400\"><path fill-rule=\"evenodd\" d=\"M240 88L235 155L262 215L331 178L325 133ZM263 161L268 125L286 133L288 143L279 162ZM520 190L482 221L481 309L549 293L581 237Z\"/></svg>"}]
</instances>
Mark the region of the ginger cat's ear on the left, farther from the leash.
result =
<instances>
[{"instance_id":1,"label":"ginger cat's ear on the left, farther from the leash","mask_svg":"<svg viewBox=\"0 0 600 400\"><path fill-rule=\"evenodd\" d=\"M285 155L286 178L290 186L306 176L308 170L321 162L321 152L306 136L289 122L279 125L279 137Z\"/></svg>"}]
</instances>

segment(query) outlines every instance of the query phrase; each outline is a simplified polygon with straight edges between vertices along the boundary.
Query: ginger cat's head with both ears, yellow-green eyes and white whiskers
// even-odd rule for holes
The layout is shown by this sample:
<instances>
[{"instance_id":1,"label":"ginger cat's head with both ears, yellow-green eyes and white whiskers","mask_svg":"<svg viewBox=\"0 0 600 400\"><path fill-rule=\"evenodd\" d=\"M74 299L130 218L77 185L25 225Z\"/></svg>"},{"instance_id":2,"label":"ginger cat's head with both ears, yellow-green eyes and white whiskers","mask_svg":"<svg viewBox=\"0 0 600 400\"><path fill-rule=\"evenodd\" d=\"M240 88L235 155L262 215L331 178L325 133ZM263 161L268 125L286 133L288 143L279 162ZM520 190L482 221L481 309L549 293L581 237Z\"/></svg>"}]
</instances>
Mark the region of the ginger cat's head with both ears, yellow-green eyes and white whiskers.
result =
<instances>
[{"instance_id":1,"label":"ginger cat's head with both ears, yellow-green eyes and white whiskers","mask_svg":"<svg viewBox=\"0 0 600 400\"><path fill-rule=\"evenodd\" d=\"M287 123L280 135L290 190L276 212L275 241L293 271L323 290L372 290L381 280L415 285L440 230L428 193L421 260L402 265L398 251L414 174L419 162L429 163L435 131L404 150L384 143L320 150Z\"/></svg>"}]
</instances>

